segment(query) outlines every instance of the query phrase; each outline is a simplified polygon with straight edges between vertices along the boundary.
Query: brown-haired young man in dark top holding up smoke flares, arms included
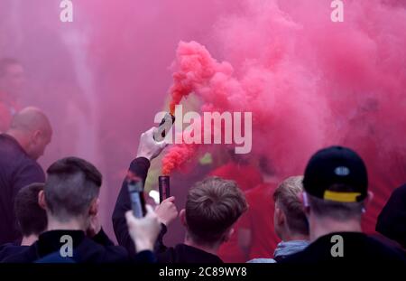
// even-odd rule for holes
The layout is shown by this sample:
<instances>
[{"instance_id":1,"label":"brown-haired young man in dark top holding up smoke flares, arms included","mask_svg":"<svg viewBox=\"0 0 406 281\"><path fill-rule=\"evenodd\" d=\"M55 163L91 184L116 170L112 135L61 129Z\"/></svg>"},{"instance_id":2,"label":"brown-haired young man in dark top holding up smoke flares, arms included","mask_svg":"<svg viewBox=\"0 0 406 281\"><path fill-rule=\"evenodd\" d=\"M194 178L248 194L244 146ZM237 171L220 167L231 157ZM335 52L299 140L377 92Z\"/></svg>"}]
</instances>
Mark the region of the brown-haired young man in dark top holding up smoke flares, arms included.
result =
<instances>
[{"instance_id":1,"label":"brown-haired young man in dark top holding up smoke flares, arms included","mask_svg":"<svg viewBox=\"0 0 406 281\"><path fill-rule=\"evenodd\" d=\"M154 129L141 136L137 157L130 164L129 172L145 181L150 161L161 153L166 145L153 139ZM220 245L234 231L235 221L246 211L246 201L236 183L218 177L210 177L196 183L188 193L185 209L180 220L186 228L184 243L174 248L163 245L166 226L178 216L174 198L161 202L156 214L162 230L155 246L155 254L161 263L222 263L217 257ZM125 211L131 209L126 181L123 182L113 212L113 227L118 244L134 251L134 243L125 226Z\"/></svg>"}]
</instances>

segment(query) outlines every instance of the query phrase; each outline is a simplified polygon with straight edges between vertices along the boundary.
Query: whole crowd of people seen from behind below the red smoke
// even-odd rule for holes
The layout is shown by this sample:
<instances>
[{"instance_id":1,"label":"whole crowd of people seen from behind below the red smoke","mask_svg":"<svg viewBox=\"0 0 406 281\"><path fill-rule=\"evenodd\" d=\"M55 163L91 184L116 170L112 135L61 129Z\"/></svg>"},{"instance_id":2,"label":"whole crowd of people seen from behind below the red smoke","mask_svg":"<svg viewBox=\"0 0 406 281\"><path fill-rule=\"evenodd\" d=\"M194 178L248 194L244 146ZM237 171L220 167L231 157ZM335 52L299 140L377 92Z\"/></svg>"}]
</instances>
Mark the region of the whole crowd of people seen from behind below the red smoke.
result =
<instances>
[{"instance_id":1,"label":"whole crowd of people seen from behind below the red smoke","mask_svg":"<svg viewBox=\"0 0 406 281\"><path fill-rule=\"evenodd\" d=\"M14 71L15 63L0 61L0 94L13 84L5 80L14 79L7 68ZM0 262L219 264L222 245L233 237L249 263L406 262L406 185L392 192L377 234L363 233L361 218L374 196L363 159L342 146L316 152L303 175L281 183L270 176L246 192L235 181L208 176L189 187L184 206L170 197L155 209L147 205L143 218L134 217L124 179L112 214L115 245L98 218L103 177L97 167L66 157L45 174L37 159L51 142L48 117L38 108L14 110L13 103L0 102L8 108L0 120ZM154 140L156 129L141 135L128 168L143 182L166 146ZM254 204L258 197L267 200ZM164 236L178 218L185 237L167 247ZM253 221L270 227L255 229ZM267 237L281 242L268 245ZM63 247L66 238L71 249ZM256 253L274 248L274 253L258 258L250 255L253 248Z\"/></svg>"}]
</instances>

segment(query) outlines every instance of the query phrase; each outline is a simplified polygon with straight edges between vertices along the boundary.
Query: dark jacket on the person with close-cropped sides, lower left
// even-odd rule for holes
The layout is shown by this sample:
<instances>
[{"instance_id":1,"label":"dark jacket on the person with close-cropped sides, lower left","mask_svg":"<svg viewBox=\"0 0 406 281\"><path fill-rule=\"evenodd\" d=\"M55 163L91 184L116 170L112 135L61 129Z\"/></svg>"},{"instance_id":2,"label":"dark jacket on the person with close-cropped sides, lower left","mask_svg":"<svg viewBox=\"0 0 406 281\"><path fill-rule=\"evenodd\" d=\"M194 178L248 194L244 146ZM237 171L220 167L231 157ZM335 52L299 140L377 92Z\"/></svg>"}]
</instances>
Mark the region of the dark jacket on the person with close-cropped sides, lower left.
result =
<instances>
[{"instance_id":1,"label":"dark jacket on the person with close-cropped sides, lower left","mask_svg":"<svg viewBox=\"0 0 406 281\"><path fill-rule=\"evenodd\" d=\"M114 246L113 242L102 230L93 239L89 239L81 230L51 230L40 235L38 241L23 252L5 258L6 263L31 263L50 255L58 255L66 242L62 236L69 235L72 238L72 257L69 261L76 263L118 263L118 262L153 262L151 251L140 253L138 257L131 256L120 246Z\"/></svg>"}]
</instances>

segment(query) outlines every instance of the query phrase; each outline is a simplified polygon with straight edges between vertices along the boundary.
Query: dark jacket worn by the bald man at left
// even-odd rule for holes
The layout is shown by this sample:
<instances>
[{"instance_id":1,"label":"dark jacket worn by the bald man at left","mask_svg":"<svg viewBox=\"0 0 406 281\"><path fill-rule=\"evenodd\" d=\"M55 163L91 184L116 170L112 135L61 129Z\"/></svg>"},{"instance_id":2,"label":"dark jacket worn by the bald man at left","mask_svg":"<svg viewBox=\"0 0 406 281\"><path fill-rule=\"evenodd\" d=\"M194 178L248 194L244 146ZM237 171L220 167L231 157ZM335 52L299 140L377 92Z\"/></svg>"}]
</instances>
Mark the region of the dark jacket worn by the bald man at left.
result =
<instances>
[{"instance_id":1,"label":"dark jacket worn by the bald man at left","mask_svg":"<svg viewBox=\"0 0 406 281\"><path fill-rule=\"evenodd\" d=\"M12 136L0 135L0 245L17 241L22 235L14 215L17 192L31 183L44 183L45 174Z\"/></svg>"}]
</instances>

